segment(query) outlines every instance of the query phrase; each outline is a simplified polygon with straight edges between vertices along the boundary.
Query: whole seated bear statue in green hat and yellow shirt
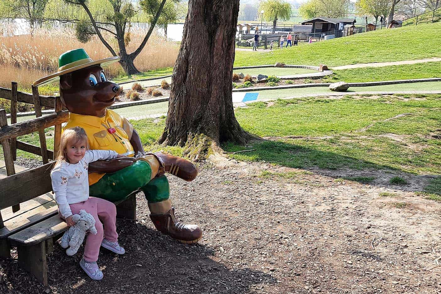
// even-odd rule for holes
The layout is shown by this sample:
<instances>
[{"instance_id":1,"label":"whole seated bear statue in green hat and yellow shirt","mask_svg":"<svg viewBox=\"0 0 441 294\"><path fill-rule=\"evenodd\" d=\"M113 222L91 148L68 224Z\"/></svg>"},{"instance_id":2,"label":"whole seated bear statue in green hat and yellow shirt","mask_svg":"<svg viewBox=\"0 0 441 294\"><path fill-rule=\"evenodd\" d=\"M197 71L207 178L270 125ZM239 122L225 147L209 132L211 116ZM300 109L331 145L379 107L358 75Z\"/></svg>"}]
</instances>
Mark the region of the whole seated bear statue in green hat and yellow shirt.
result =
<instances>
[{"instance_id":1,"label":"whole seated bear statue in green hat and yellow shirt","mask_svg":"<svg viewBox=\"0 0 441 294\"><path fill-rule=\"evenodd\" d=\"M90 149L115 150L127 156L90 163L90 196L115 202L140 189L158 231L183 243L196 243L202 238L202 230L176 220L164 174L191 181L198 170L190 161L168 153L146 153L131 123L107 108L115 102L121 88L107 80L103 67L119 60L120 57L112 56L93 61L83 48L67 51L59 58L58 71L33 85L59 80L61 101L70 112L63 130L82 127Z\"/></svg>"}]
</instances>

